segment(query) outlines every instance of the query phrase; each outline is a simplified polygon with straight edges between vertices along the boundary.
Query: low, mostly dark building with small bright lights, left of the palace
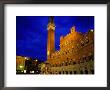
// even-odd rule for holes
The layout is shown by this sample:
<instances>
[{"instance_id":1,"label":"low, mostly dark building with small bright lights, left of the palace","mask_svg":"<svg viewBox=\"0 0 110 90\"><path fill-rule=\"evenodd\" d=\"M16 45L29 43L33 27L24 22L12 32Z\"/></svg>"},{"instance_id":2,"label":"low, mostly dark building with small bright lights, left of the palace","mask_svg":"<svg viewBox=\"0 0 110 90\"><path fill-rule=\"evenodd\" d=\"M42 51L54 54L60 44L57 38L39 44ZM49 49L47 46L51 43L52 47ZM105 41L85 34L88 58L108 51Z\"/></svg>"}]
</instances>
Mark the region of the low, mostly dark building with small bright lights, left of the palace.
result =
<instances>
[{"instance_id":1,"label":"low, mostly dark building with small bright lights, left of the palace","mask_svg":"<svg viewBox=\"0 0 110 90\"><path fill-rule=\"evenodd\" d=\"M37 59L24 56L16 56L16 73L25 73L25 74L39 74L40 67Z\"/></svg>"}]
</instances>

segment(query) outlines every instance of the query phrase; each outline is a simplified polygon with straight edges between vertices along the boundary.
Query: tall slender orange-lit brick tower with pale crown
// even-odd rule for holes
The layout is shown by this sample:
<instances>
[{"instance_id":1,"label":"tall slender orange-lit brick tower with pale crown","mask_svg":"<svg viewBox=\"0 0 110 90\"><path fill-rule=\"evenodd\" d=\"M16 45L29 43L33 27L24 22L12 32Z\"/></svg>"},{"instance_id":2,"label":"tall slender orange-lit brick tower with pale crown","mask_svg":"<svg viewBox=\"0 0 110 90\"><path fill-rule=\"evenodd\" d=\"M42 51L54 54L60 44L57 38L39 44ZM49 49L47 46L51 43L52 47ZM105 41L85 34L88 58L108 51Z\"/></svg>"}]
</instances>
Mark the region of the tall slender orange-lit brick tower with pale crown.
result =
<instances>
[{"instance_id":1,"label":"tall slender orange-lit brick tower with pale crown","mask_svg":"<svg viewBox=\"0 0 110 90\"><path fill-rule=\"evenodd\" d=\"M49 17L49 23L47 25L48 38L47 38L47 60L51 58L51 54L55 51L55 24L54 17Z\"/></svg>"}]
</instances>

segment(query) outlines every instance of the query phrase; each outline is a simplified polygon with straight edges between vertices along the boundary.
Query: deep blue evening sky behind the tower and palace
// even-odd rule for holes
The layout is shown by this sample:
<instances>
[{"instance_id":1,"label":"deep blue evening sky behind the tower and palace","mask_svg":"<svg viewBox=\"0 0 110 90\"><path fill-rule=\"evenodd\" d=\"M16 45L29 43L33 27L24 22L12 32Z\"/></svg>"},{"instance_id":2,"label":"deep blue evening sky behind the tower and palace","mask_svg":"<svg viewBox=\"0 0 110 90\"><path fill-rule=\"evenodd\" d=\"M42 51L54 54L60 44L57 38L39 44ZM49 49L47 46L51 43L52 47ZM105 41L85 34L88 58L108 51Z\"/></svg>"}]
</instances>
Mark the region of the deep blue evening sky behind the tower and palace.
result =
<instances>
[{"instance_id":1,"label":"deep blue evening sky behind the tower and palace","mask_svg":"<svg viewBox=\"0 0 110 90\"><path fill-rule=\"evenodd\" d=\"M16 55L46 60L48 22L49 16L16 16ZM54 22L56 50L72 26L82 33L94 29L94 16L54 16Z\"/></svg>"}]
</instances>

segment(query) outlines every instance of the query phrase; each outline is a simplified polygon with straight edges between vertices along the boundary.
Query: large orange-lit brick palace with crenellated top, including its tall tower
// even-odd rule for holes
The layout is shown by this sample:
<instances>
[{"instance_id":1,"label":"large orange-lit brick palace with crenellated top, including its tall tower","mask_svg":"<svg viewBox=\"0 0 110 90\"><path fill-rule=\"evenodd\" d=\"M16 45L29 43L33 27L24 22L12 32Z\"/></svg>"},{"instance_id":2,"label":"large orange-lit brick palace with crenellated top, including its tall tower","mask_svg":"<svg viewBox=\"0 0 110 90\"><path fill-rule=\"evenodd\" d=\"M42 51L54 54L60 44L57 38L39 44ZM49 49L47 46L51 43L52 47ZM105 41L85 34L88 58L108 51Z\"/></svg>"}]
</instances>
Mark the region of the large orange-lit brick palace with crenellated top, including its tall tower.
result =
<instances>
[{"instance_id":1,"label":"large orange-lit brick palace with crenellated top, including its tall tower","mask_svg":"<svg viewBox=\"0 0 110 90\"><path fill-rule=\"evenodd\" d=\"M81 33L73 26L69 34L60 37L60 50L55 51L53 18L49 23L52 23L48 24L48 35L51 36L48 41L51 42L47 42L47 61L41 73L94 74L94 30Z\"/></svg>"}]
</instances>

